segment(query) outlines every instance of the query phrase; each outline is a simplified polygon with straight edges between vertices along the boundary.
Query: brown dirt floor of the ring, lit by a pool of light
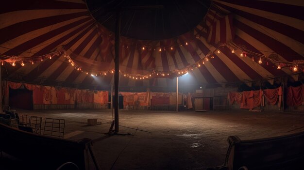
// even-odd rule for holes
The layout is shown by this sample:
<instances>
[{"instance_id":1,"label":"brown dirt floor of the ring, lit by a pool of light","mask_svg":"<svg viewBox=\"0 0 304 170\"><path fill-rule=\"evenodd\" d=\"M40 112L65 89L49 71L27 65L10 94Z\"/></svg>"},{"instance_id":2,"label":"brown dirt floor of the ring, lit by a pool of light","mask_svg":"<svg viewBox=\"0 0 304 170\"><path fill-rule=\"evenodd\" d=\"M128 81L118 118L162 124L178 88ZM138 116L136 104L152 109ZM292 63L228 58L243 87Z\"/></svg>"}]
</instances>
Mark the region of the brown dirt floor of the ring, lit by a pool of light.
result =
<instances>
[{"instance_id":1,"label":"brown dirt floor of the ring, lit by a pool of light","mask_svg":"<svg viewBox=\"0 0 304 170\"><path fill-rule=\"evenodd\" d=\"M223 163L228 136L261 139L304 131L304 113L293 112L119 110L120 135L114 136L105 134L111 109L17 112L43 122L65 119L65 139L93 139L102 170L204 170ZM101 124L89 126L87 119Z\"/></svg>"}]
</instances>

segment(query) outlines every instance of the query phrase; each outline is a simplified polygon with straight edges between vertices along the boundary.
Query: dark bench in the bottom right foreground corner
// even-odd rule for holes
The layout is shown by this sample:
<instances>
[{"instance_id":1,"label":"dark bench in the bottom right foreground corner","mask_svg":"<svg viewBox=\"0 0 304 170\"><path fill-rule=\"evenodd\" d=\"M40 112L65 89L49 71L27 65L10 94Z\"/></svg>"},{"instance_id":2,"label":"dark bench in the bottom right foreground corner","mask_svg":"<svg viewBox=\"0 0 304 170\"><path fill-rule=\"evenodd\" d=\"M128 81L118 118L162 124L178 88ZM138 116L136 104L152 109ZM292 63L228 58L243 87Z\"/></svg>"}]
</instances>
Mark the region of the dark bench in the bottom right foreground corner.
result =
<instances>
[{"instance_id":1,"label":"dark bench in the bottom right foreground corner","mask_svg":"<svg viewBox=\"0 0 304 170\"><path fill-rule=\"evenodd\" d=\"M230 136L228 143L224 165L217 170L304 169L304 132L254 140Z\"/></svg>"}]
</instances>

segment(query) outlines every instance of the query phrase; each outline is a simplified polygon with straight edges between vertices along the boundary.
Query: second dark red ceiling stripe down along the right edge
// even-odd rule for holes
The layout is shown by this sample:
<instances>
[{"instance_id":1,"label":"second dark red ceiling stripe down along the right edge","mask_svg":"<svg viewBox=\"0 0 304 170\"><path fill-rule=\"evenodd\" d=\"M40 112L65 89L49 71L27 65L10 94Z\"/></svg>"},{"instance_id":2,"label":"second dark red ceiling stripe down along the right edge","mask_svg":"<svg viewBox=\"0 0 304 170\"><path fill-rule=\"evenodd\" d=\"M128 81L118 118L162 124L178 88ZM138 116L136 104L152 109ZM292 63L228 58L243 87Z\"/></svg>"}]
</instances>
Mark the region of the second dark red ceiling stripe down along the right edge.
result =
<instances>
[{"instance_id":1,"label":"second dark red ceiling stripe down along the right edge","mask_svg":"<svg viewBox=\"0 0 304 170\"><path fill-rule=\"evenodd\" d=\"M236 15L240 15L240 16L246 18L246 19L249 19L249 20L257 23L257 24L265 26L265 27L267 27L267 28L269 28L273 31L280 32L280 33L282 33L282 34L284 34L284 35L286 35L286 36L304 44L304 33L301 30L298 30L298 29L296 29L294 27L291 27L289 25L282 24L282 23L279 23L279 22L276 22L276 21L258 16L258 15L253 15L253 14L250 14L250 13L247 13L247 12L244 12L244 11L237 10L235 8L228 7L226 5L217 3L215 1L214 1L214 3L218 4L220 7L223 7L225 9L235 13ZM284 8L282 8L282 9L284 9Z\"/></svg>"}]
</instances>

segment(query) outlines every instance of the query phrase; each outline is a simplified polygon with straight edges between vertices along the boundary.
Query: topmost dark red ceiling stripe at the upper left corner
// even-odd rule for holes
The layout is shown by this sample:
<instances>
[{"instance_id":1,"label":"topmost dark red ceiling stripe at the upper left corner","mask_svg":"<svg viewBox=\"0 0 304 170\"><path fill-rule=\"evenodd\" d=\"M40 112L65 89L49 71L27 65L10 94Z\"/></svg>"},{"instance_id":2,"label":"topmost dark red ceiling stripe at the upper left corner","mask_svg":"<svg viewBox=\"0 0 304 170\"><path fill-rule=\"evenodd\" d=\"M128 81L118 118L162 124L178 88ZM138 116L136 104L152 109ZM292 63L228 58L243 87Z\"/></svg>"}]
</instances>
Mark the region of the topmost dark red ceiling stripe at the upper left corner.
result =
<instances>
[{"instance_id":1,"label":"topmost dark red ceiling stripe at the upper left corner","mask_svg":"<svg viewBox=\"0 0 304 170\"><path fill-rule=\"evenodd\" d=\"M35 9L86 9L86 5L84 3L57 0L18 0L17 2L16 0L8 0L5 1L4 4L0 6L0 14L12 11Z\"/></svg>"}]
</instances>

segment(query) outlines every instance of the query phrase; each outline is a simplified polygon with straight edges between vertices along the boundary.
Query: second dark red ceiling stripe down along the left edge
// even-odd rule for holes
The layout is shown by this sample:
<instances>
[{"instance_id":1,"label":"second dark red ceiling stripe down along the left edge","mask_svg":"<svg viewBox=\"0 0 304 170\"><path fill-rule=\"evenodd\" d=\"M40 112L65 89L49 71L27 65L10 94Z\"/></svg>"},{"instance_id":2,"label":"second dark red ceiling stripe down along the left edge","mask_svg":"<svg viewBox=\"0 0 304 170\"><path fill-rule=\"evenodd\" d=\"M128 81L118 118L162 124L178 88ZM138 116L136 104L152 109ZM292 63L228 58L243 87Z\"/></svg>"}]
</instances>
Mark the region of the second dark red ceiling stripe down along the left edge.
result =
<instances>
[{"instance_id":1,"label":"second dark red ceiling stripe down along the left edge","mask_svg":"<svg viewBox=\"0 0 304 170\"><path fill-rule=\"evenodd\" d=\"M29 21L19 22L17 24L5 27L0 30L0 44L3 44L11 39L14 39L20 35L25 33L35 31L44 27L51 26L53 24L57 24L59 22L67 21L73 18L77 18L80 16L84 16L86 13L73 13L73 14L66 14L66 15L56 15L50 16L45 18L38 18ZM22 29L20 29L22 28ZM5 36L4 36L5 35Z\"/></svg>"}]
</instances>

